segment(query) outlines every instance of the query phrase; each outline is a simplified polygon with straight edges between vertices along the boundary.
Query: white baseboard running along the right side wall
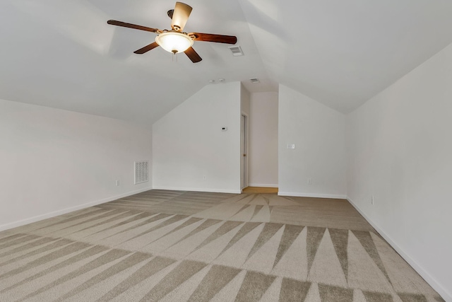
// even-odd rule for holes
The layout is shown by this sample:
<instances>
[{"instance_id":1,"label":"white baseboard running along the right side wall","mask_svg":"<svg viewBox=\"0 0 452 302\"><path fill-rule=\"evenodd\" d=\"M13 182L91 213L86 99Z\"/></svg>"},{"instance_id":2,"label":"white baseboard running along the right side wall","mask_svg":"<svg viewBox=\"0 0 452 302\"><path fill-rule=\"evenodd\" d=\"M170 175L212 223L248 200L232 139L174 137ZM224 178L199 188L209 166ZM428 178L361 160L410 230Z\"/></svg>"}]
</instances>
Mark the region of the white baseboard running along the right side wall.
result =
<instances>
[{"instance_id":1,"label":"white baseboard running along the right side wall","mask_svg":"<svg viewBox=\"0 0 452 302\"><path fill-rule=\"evenodd\" d=\"M364 214L364 212L359 209L357 204L355 204L355 202L353 202L350 197L347 197L347 200L348 202L350 202L350 204L352 204L353 207L355 207L359 214L361 214L364 219L366 219L367 222L369 222L370 225L375 228L375 231L379 232L381 237L383 237L394 248L394 250L396 250L398 254L403 257L403 259L408 262L408 264L411 265L411 267L415 269L415 271L420 274L420 276L424 278L424 280L427 281L427 283L430 284L430 286L432 286L435 291L438 292L438 294L441 295L442 298L444 298L444 300L452 302L452 294L448 292L444 288L444 286L439 284L438 281L436 281L436 279L432 277L432 275L430 275L425 269L418 265L417 262L412 259L412 257L410 257L402 248L400 248L400 246L397 245L397 243L391 238L391 236L388 236L388 234L385 233L385 231L383 231L383 229L381 229L376 223L374 223L374 221L371 221L371 219L369 219L369 216Z\"/></svg>"}]
</instances>

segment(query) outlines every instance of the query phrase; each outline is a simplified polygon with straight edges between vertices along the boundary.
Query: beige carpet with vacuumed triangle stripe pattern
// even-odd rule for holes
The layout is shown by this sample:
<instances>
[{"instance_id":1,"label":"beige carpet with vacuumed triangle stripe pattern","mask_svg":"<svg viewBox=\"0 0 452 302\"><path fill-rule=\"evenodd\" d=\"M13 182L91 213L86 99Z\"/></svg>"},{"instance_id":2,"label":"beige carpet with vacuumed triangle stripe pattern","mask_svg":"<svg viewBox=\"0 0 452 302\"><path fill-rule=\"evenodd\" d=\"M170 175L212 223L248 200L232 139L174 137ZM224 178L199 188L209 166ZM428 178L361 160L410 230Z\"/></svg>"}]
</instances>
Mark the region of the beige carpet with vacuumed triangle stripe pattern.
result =
<instances>
[{"instance_id":1,"label":"beige carpet with vacuumed triangle stripe pattern","mask_svg":"<svg viewBox=\"0 0 452 302\"><path fill-rule=\"evenodd\" d=\"M345 200L151 190L0 232L0 301L443 301Z\"/></svg>"}]
</instances>

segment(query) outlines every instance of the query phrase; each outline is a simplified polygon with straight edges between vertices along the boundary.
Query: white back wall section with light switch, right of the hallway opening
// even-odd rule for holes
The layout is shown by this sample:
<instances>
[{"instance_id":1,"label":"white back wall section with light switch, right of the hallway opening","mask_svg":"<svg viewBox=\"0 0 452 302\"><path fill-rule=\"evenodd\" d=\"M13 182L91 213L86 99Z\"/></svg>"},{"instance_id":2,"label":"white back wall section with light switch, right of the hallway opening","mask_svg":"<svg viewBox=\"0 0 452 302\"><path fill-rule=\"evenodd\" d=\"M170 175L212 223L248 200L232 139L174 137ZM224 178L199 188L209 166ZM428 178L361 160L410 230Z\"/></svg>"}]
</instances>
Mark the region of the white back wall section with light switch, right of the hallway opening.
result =
<instances>
[{"instance_id":1,"label":"white back wall section with light switch, right of the hallway opening","mask_svg":"<svg viewBox=\"0 0 452 302\"><path fill-rule=\"evenodd\" d=\"M345 198L345 115L287 86L279 91L279 194Z\"/></svg>"}]
</instances>

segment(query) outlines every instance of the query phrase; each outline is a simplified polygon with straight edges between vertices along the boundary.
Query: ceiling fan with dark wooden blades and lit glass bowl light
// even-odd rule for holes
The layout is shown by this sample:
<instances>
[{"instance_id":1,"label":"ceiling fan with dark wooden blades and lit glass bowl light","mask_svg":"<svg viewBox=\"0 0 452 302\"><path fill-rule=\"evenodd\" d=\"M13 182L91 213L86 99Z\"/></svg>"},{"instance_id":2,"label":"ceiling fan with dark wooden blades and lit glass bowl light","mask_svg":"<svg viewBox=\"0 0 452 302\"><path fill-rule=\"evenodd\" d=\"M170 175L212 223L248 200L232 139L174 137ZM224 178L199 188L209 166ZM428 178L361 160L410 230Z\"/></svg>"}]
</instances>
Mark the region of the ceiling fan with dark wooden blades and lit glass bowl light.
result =
<instances>
[{"instance_id":1,"label":"ceiling fan with dark wooden blades and lit glass bowl light","mask_svg":"<svg viewBox=\"0 0 452 302\"><path fill-rule=\"evenodd\" d=\"M191 13L191 6L184 4L182 2L176 2L174 9L168 11L168 16L171 18L171 30L159 30L157 28L148 28L141 25L135 25L131 23L125 23L116 20L107 21L108 24L122 26L124 28L133 28L137 30L150 31L152 33L157 33L155 37L155 42L146 45L139 50L134 51L136 54L144 54L155 47L162 47L167 52L172 52L177 54L179 52L184 52L191 62L197 63L201 62L201 57L199 54L191 47L194 41L206 41L206 42L218 42L226 44L235 44L237 42L237 37L233 35L215 35L211 33L184 33L186 21L189 19Z\"/></svg>"}]
</instances>

